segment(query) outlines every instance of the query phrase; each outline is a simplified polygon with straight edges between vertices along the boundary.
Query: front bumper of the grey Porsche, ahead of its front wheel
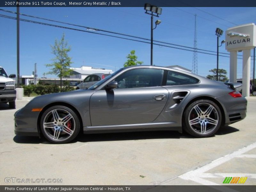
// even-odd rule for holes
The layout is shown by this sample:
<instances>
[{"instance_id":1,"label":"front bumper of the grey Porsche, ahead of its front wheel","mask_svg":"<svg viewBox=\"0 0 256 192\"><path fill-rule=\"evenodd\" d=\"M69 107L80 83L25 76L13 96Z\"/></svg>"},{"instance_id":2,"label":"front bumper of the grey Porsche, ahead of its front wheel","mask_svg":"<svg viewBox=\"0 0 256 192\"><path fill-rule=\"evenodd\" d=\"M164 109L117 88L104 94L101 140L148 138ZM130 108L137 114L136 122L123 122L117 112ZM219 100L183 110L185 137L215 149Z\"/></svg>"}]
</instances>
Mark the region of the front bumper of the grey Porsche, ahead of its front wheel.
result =
<instances>
[{"instance_id":1,"label":"front bumper of the grey Porsche, ahead of its front wheel","mask_svg":"<svg viewBox=\"0 0 256 192\"><path fill-rule=\"evenodd\" d=\"M14 114L14 133L23 136L40 136L37 124L39 112L21 108Z\"/></svg>"}]
</instances>

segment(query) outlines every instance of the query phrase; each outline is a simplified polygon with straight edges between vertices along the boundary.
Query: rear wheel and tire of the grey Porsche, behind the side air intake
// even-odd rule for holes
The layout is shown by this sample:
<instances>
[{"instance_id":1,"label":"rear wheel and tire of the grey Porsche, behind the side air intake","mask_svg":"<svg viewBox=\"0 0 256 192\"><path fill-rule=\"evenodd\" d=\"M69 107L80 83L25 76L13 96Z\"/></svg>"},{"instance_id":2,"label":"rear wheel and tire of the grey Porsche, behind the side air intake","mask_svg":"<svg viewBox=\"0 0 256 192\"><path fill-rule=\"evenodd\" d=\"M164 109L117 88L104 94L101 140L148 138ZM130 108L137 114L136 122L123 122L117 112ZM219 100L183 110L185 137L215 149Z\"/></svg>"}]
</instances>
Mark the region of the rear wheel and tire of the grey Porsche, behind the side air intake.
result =
<instances>
[{"instance_id":1,"label":"rear wheel and tire of the grey Porsche, behind the side air intake","mask_svg":"<svg viewBox=\"0 0 256 192\"><path fill-rule=\"evenodd\" d=\"M183 114L183 129L194 137L211 137L219 130L221 119L221 111L216 103L197 100Z\"/></svg>"}]
</instances>

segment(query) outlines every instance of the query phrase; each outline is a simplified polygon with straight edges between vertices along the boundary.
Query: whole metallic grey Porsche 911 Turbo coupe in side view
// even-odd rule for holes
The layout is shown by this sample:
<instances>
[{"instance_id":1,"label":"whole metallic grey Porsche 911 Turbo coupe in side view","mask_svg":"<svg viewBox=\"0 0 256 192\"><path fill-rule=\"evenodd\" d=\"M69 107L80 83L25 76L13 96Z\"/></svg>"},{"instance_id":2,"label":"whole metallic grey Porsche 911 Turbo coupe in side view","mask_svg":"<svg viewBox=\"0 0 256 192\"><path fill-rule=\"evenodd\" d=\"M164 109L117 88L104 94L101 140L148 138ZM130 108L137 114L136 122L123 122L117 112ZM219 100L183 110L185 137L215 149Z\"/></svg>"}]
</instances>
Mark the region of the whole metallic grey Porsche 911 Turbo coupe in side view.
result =
<instances>
[{"instance_id":1,"label":"whole metallic grey Porsche 911 Turbo coupe in side view","mask_svg":"<svg viewBox=\"0 0 256 192\"><path fill-rule=\"evenodd\" d=\"M241 85L241 84L240 84ZM157 66L122 68L88 90L42 95L15 116L15 134L67 143L87 133L175 130L210 137L245 118L239 83Z\"/></svg>"}]
</instances>

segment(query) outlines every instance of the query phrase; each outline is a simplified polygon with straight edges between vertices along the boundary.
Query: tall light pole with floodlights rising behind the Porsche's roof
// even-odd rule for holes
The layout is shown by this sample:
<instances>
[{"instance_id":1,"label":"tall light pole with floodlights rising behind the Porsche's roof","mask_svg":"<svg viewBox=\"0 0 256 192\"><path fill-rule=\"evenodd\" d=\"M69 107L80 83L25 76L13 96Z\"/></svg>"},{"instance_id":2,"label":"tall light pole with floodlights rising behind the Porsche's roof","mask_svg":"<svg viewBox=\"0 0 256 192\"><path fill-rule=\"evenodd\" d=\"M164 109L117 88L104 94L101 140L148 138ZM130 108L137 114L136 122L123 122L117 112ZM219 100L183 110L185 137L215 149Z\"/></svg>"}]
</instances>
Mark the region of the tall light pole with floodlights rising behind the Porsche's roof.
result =
<instances>
[{"instance_id":1,"label":"tall light pole with floodlights rising behind the Porsche's roof","mask_svg":"<svg viewBox=\"0 0 256 192\"><path fill-rule=\"evenodd\" d=\"M151 45L151 59L150 59L150 65L153 65L153 29L156 28L157 25L159 25L161 23L160 20L156 20L155 24L155 28L153 28L153 16L155 17L159 17L159 15L162 14L162 8L161 7L156 7L155 5L151 5L146 3L144 5L144 10L146 10L145 13L151 15L151 38L150 38L150 45ZM151 12L151 13L148 13Z\"/></svg>"}]
</instances>

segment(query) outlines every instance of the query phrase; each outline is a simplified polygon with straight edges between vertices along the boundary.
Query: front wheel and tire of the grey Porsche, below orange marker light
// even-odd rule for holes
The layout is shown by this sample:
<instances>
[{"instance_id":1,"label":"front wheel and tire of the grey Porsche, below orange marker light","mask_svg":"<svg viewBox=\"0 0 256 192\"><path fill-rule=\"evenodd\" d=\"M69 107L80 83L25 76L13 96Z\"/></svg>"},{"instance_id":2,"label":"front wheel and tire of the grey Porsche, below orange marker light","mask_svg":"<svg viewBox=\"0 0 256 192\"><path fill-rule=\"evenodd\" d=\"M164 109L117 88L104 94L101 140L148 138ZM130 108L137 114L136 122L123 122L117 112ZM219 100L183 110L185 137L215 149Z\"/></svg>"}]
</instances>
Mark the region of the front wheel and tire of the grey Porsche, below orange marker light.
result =
<instances>
[{"instance_id":1,"label":"front wheel and tire of the grey Porsche, below orange marker light","mask_svg":"<svg viewBox=\"0 0 256 192\"><path fill-rule=\"evenodd\" d=\"M80 130L76 113L65 106L48 108L41 118L41 131L52 143L67 143L75 139Z\"/></svg>"}]
</instances>

